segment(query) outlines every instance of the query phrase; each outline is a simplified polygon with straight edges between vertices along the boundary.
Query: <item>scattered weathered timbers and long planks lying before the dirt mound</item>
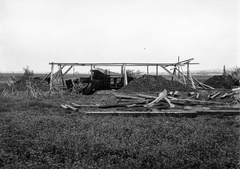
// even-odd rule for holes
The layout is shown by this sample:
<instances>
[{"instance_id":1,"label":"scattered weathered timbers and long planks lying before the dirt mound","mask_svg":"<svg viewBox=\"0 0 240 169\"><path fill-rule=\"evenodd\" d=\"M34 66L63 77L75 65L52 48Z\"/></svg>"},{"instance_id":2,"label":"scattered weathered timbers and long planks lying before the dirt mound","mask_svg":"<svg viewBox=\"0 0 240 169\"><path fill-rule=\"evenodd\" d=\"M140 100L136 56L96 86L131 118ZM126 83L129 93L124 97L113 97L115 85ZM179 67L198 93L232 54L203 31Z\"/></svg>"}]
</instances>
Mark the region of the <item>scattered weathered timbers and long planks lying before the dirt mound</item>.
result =
<instances>
[{"instance_id":1,"label":"scattered weathered timbers and long planks lying before the dirt mound","mask_svg":"<svg viewBox=\"0 0 240 169\"><path fill-rule=\"evenodd\" d=\"M239 95L240 89L235 89L233 93ZM222 97L216 93L210 100L183 99L169 96L164 89L157 96L137 94L126 95L115 93L117 98L116 104L92 104L80 105L76 103L62 104L65 110L84 112L84 108L94 108L95 111L85 111L85 114L127 114L127 115L173 115L173 116L190 116L197 115L240 115L240 107L232 107L225 102L218 102L212 99ZM224 96L224 97L229 97ZM106 111L108 109L108 111ZM88 109L89 110L89 109ZM104 111L101 111L104 110Z\"/></svg>"}]
</instances>

